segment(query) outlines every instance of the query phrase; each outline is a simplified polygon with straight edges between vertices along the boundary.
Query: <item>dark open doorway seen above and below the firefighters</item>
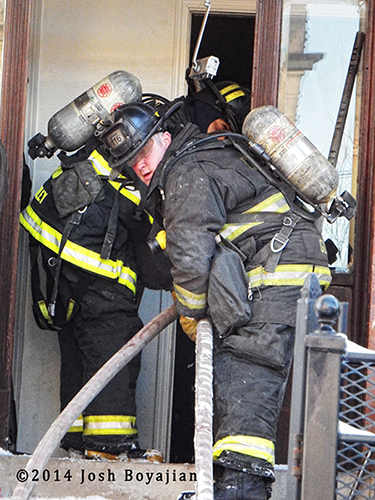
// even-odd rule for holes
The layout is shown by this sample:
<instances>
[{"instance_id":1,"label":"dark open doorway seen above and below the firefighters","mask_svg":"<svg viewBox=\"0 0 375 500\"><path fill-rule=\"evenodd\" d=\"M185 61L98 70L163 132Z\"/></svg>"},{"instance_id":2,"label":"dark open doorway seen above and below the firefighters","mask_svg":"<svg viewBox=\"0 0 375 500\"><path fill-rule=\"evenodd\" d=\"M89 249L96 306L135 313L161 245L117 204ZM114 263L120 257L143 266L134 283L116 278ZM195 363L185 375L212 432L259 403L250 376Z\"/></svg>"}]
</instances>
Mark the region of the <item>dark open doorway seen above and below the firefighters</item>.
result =
<instances>
[{"instance_id":1,"label":"dark open doorway seen above and below the firefighters","mask_svg":"<svg viewBox=\"0 0 375 500\"><path fill-rule=\"evenodd\" d=\"M203 14L192 14L190 63ZM216 56L220 65L213 82L234 81L250 90L253 67L255 16L210 14L198 59ZM239 64L240 61L240 64ZM195 344L178 324L174 370L170 461L194 462Z\"/></svg>"}]
</instances>

